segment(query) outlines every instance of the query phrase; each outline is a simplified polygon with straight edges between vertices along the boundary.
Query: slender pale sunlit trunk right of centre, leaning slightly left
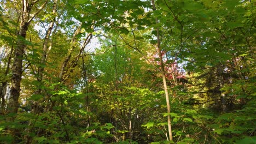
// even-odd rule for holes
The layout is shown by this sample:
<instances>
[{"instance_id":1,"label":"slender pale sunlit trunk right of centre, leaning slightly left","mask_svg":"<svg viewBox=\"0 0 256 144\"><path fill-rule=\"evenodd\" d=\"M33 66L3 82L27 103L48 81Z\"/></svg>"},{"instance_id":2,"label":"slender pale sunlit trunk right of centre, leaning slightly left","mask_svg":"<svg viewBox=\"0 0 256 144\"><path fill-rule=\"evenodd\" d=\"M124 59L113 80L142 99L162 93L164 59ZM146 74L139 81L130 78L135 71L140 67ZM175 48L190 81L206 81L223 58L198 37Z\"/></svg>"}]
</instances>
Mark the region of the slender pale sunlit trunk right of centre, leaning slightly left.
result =
<instances>
[{"instance_id":1,"label":"slender pale sunlit trunk right of centre, leaning slightly left","mask_svg":"<svg viewBox=\"0 0 256 144\"><path fill-rule=\"evenodd\" d=\"M155 7L155 2L152 0L153 4L153 10L156 10ZM155 23L158 24L158 19L155 19ZM165 98L166 98L166 106L167 106L167 113L171 112L171 107L170 107L170 100L169 100L169 94L168 94L168 89L167 89L167 84L166 84L166 75L165 75L165 65L164 61L162 60L162 50L161 50L161 40L160 40L160 34L159 34L159 28L156 28L157 32L157 39L158 39L158 44L157 44L157 49L158 49L158 56L160 58L160 66L161 66L161 75L162 75L162 83L164 85L164 91L165 91ZM167 123L168 123L168 138L170 141L172 141L172 127L171 127L171 116L167 115Z\"/></svg>"}]
</instances>

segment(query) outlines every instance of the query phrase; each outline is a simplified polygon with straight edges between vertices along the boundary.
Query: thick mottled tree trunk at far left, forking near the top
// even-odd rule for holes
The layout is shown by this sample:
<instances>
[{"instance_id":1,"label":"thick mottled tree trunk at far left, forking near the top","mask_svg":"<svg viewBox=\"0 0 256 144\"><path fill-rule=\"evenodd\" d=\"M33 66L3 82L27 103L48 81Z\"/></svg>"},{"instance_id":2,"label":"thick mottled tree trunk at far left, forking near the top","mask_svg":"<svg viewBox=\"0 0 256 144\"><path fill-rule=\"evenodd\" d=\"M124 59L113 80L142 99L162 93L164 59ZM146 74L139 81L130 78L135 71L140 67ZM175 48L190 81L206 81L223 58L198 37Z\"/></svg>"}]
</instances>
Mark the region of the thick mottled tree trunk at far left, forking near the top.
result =
<instances>
[{"instance_id":1,"label":"thick mottled tree trunk at far left, forking near the top","mask_svg":"<svg viewBox=\"0 0 256 144\"><path fill-rule=\"evenodd\" d=\"M28 26L33 18L39 14L39 12L45 7L47 0L37 9L34 14L30 14L31 9L34 4L38 1L27 2L26 0L22 0L22 9L21 9L21 21L20 21L20 29L17 34L17 47L14 51L14 62L12 67L13 76L11 77L11 89L10 89L10 98L9 103L7 105L7 113L17 113L19 107L19 97L20 97L20 83L21 83L21 75L22 75L22 61L24 52L26 49L26 35Z\"/></svg>"}]
</instances>

